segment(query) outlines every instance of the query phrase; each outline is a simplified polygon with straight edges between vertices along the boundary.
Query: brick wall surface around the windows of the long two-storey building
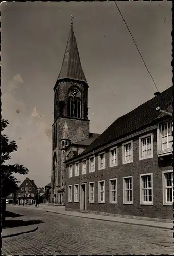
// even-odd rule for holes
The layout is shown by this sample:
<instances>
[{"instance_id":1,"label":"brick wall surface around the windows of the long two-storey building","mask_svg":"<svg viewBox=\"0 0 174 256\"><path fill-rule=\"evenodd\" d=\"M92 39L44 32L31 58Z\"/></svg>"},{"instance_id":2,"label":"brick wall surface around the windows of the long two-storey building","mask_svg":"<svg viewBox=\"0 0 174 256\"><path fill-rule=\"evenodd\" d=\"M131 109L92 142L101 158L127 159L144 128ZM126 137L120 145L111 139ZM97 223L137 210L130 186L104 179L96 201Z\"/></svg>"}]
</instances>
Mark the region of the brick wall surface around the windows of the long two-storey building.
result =
<instances>
[{"instance_id":1,"label":"brick wall surface around the windows of the long two-storey building","mask_svg":"<svg viewBox=\"0 0 174 256\"><path fill-rule=\"evenodd\" d=\"M150 132L148 132L150 133ZM143 134L145 135L145 133ZM140 135L141 136L141 135ZM125 141L126 142L126 141ZM133 162L122 164L122 143L118 144L118 165L109 167L109 148L106 152L106 168L98 170L98 154L95 154L95 172L89 173L89 157L87 157L87 174L68 178L66 172L66 207L79 209L79 203L74 203L74 184L87 182L86 209L89 211L111 212L114 214L134 215L151 218L172 218L172 206L163 206L162 171L172 170L171 156L160 162L157 156L157 134L153 131L153 158L139 160L139 136L133 138ZM140 205L140 174L153 173L153 205ZM123 177L133 176L133 204L123 204ZM117 178L117 204L109 202L109 179ZM105 180L105 203L98 203L98 181ZM89 203L89 182L95 182L95 203ZM72 185L72 202L68 202L68 185ZM79 197L80 198L80 197Z\"/></svg>"}]
</instances>

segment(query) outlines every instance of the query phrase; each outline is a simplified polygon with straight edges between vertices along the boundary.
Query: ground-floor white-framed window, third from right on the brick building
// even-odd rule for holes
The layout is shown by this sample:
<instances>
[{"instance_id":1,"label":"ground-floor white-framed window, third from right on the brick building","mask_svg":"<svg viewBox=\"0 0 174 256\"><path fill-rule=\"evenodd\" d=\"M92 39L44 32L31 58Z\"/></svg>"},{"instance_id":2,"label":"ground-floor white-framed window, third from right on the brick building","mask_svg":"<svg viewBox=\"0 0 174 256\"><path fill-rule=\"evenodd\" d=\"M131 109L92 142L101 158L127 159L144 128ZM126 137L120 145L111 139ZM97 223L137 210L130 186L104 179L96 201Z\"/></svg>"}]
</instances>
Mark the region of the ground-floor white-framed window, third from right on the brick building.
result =
<instances>
[{"instance_id":1,"label":"ground-floor white-framed window, third from right on the brick building","mask_svg":"<svg viewBox=\"0 0 174 256\"><path fill-rule=\"evenodd\" d=\"M132 203L132 176L123 177L123 204Z\"/></svg>"}]
</instances>

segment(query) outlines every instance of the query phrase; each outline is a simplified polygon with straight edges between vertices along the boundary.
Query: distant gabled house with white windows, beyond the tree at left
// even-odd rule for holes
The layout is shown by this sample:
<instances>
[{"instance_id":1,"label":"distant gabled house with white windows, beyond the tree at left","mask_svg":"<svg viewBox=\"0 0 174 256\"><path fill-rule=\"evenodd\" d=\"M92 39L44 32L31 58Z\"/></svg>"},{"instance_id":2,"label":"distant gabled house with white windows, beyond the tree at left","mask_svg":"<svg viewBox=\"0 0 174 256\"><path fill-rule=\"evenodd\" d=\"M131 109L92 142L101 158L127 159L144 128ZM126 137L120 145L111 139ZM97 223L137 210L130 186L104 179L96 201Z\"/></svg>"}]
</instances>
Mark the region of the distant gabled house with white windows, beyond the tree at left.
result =
<instances>
[{"instance_id":1,"label":"distant gabled house with white windows, beyond the tree at left","mask_svg":"<svg viewBox=\"0 0 174 256\"><path fill-rule=\"evenodd\" d=\"M16 191L16 204L35 204L38 197L37 189L34 180L26 178Z\"/></svg>"}]
</instances>

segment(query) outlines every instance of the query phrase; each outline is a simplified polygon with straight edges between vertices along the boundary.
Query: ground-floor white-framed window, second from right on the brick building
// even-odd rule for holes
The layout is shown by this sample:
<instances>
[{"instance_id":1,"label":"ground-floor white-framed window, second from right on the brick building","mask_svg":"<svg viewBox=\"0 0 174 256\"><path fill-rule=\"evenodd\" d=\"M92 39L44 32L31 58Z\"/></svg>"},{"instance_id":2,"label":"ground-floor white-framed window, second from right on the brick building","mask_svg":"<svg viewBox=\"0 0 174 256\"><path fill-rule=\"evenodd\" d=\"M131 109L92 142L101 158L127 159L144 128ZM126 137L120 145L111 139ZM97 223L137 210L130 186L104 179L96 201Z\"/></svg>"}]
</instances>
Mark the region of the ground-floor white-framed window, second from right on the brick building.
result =
<instances>
[{"instance_id":1,"label":"ground-floor white-framed window, second from right on the brick building","mask_svg":"<svg viewBox=\"0 0 174 256\"><path fill-rule=\"evenodd\" d=\"M140 175L140 204L153 205L152 174Z\"/></svg>"}]
</instances>

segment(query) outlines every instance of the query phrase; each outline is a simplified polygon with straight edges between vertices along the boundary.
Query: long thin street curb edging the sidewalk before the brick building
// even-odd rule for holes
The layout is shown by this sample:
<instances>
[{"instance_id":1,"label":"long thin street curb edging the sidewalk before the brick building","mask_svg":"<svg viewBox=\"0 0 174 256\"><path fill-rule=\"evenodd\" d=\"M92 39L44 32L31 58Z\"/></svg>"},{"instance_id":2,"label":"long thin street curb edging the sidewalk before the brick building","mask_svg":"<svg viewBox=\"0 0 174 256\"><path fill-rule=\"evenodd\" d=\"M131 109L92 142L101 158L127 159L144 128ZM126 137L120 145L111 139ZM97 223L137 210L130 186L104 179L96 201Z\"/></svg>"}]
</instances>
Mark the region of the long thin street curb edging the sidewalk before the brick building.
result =
<instances>
[{"instance_id":1,"label":"long thin street curb edging the sidewalk before the brick building","mask_svg":"<svg viewBox=\"0 0 174 256\"><path fill-rule=\"evenodd\" d=\"M43 208L42 208L42 209L43 209ZM86 216L77 216L77 215L70 215L70 214L62 214L62 213L56 212L56 211L47 211L47 210L46 210L46 212L51 212L51 213L53 213L53 214L61 214L61 215L79 217L79 218L92 219L92 220L99 220L99 221L112 221L112 222L119 222L119 223L123 223L123 224L138 225L138 226L146 226L146 227L156 227L156 228L162 228L162 229L173 230L173 228L169 228L169 227L158 227L158 226L155 226L155 225L148 225L148 224L130 223L130 222L114 221L114 220L104 220L104 219L92 218L92 217L86 217ZM171 223L171 224L172 224L172 223Z\"/></svg>"}]
</instances>

